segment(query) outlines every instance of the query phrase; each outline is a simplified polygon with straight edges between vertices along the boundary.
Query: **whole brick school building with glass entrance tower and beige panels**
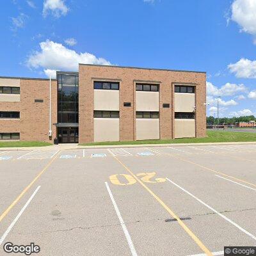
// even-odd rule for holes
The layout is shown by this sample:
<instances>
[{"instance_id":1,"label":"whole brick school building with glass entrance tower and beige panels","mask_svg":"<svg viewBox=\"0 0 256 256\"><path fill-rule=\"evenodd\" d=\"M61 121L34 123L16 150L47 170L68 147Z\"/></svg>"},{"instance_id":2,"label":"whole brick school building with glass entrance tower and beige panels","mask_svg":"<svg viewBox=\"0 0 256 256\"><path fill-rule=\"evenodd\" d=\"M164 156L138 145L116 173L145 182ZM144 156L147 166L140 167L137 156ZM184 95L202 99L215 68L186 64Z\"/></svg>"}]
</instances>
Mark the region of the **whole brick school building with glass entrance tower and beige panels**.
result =
<instances>
[{"instance_id":1,"label":"whole brick school building with glass entrance tower and beige panels","mask_svg":"<svg viewBox=\"0 0 256 256\"><path fill-rule=\"evenodd\" d=\"M79 64L57 72L51 95L49 79L0 77L0 140L204 137L205 90L205 72L154 68Z\"/></svg>"}]
</instances>

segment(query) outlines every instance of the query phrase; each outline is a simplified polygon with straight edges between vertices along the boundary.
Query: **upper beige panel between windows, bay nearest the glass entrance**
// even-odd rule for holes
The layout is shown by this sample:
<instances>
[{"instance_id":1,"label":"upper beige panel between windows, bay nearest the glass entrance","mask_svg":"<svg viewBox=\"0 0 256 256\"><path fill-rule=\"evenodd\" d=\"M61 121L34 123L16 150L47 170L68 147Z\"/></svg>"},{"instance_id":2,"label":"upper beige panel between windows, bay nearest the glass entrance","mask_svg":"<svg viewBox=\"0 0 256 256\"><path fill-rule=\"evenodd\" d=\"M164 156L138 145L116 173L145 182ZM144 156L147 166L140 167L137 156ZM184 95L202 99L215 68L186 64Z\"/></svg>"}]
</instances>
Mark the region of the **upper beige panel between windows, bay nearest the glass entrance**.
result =
<instances>
[{"instance_id":1,"label":"upper beige panel between windows, bay nearest the glass entrance","mask_svg":"<svg viewBox=\"0 0 256 256\"><path fill-rule=\"evenodd\" d=\"M119 110L119 90L94 90L94 110Z\"/></svg>"}]
</instances>

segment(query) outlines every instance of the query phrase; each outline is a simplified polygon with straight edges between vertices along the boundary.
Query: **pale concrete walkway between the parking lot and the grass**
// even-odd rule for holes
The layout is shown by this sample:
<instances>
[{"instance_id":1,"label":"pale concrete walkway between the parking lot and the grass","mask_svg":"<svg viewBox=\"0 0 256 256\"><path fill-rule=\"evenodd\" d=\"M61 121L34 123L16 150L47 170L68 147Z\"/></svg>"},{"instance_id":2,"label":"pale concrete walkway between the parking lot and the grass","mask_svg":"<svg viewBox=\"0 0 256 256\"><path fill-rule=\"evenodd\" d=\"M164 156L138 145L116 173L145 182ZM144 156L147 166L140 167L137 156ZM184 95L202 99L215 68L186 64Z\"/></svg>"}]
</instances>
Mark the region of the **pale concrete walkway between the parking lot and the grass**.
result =
<instances>
[{"instance_id":1,"label":"pale concrete walkway between the parking lot and the grass","mask_svg":"<svg viewBox=\"0 0 256 256\"><path fill-rule=\"evenodd\" d=\"M170 144L140 144L140 145L96 145L96 146L80 146L78 144L59 144L46 147L8 147L0 148L0 151L12 150L68 150L68 149L81 149L81 148L134 148L134 147L185 147L196 145L252 145L256 141L241 141L241 142L212 142L212 143L170 143Z\"/></svg>"}]
</instances>

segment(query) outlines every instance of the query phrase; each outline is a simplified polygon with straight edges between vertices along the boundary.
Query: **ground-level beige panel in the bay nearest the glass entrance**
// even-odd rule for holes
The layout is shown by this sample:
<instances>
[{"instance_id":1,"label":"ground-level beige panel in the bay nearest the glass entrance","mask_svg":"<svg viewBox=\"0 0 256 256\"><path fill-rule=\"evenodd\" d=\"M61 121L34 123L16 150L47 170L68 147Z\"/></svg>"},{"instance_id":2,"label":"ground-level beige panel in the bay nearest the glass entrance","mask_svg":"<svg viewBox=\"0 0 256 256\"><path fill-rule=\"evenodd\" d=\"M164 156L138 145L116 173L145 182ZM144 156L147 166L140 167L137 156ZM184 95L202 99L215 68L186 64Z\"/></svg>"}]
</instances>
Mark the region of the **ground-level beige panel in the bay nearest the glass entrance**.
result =
<instances>
[{"instance_id":1,"label":"ground-level beige panel in the bay nearest the glass entrance","mask_svg":"<svg viewBox=\"0 0 256 256\"><path fill-rule=\"evenodd\" d=\"M94 118L94 142L119 140L119 118Z\"/></svg>"}]
</instances>

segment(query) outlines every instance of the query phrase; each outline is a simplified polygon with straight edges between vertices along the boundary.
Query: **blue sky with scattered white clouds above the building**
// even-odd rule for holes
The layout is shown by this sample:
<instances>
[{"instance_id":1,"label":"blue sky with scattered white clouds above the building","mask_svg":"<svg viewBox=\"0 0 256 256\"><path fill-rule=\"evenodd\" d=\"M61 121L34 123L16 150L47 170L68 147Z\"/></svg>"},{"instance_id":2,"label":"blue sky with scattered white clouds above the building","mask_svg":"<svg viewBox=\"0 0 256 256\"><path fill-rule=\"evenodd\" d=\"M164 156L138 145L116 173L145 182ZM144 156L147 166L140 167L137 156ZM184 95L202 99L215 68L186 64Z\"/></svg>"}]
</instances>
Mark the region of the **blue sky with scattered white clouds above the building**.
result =
<instances>
[{"instance_id":1,"label":"blue sky with scattered white clouds above the building","mask_svg":"<svg viewBox=\"0 0 256 256\"><path fill-rule=\"evenodd\" d=\"M207 72L207 115L256 116L255 0L8 0L0 76L78 63Z\"/></svg>"}]
</instances>

